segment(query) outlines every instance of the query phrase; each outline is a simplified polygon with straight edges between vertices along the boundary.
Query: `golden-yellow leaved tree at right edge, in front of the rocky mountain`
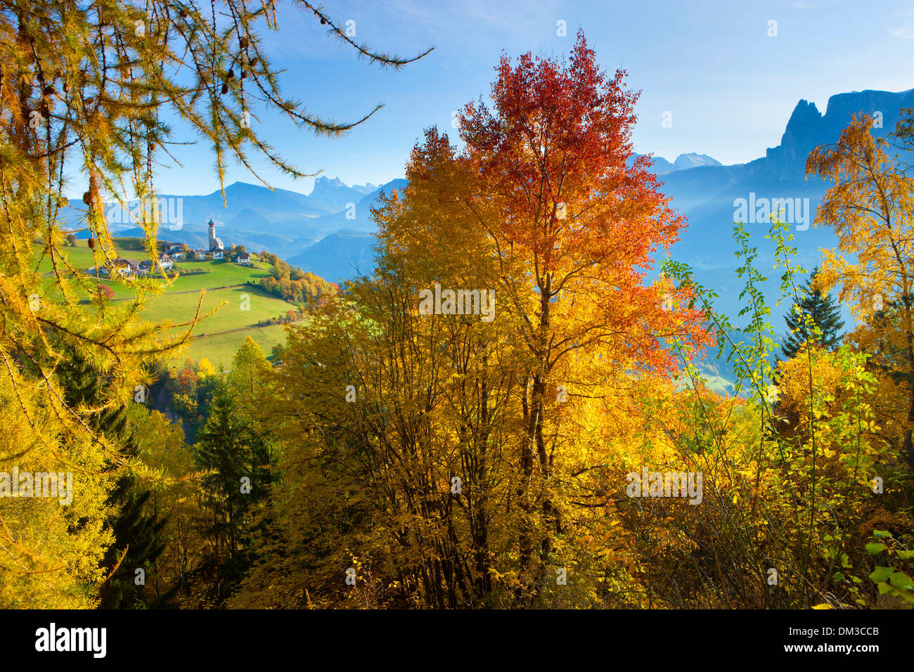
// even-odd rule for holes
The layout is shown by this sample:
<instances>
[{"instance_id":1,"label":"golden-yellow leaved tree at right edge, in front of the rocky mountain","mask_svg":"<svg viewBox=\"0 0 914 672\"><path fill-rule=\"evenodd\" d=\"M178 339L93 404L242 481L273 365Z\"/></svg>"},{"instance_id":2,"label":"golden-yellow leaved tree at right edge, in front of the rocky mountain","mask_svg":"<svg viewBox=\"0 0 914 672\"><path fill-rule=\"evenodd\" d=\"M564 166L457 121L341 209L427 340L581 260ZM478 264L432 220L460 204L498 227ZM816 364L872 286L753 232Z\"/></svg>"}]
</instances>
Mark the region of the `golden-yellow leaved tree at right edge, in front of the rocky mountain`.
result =
<instances>
[{"instance_id":1,"label":"golden-yellow leaved tree at right edge, in front of the rocky mountain","mask_svg":"<svg viewBox=\"0 0 914 672\"><path fill-rule=\"evenodd\" d=\"M871 128L869 116L855 116L836 144L813 151L806 173L833 183L815 219L838 236L821 281L840 287L861 323L850 338L883 374L877 418L914 468L914 181Z\"/></svg>"}]
</instances>

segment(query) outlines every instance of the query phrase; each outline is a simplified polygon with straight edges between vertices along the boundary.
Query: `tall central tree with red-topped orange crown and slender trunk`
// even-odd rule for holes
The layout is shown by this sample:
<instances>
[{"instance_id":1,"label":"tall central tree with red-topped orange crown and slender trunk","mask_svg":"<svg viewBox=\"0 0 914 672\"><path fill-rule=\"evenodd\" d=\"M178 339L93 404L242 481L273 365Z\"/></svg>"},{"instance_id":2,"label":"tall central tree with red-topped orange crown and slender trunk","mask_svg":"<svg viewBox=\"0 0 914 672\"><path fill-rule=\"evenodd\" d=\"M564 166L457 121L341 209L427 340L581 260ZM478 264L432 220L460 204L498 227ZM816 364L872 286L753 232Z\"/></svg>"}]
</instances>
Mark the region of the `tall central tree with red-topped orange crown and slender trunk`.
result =
<instances>
[{"instance_id":1,"label":"tall central tree with red-topped orange crown and slender trunk","mask_svg":"<svg viewBox=\"0 0 914 672\"><path fill-rule=\"evenodd\" d=\"M548 496L534 493L545 493L537 481L550 477L544 430L559 360L593 348L621 367L668 374L674 360L663 337L697 345L700 315L685 306L664 311L671 288L643 284L652 255L668 249L685 222L659 192L649 159L633 155L637 93L625 88L625 72L602 72L581 32L567 64L527 53L516 64L503 57L497 72L494 110L471 103L463 111L462 161L477 182L461 197L499 261L520 271L499 288L503 304L522 317L531 356L520 455L531 487L520 496L528 512L539 507L558 526L549 520ZM522 534L522 573L531 567L534 542Z\"/></svg>"}]
</instances>

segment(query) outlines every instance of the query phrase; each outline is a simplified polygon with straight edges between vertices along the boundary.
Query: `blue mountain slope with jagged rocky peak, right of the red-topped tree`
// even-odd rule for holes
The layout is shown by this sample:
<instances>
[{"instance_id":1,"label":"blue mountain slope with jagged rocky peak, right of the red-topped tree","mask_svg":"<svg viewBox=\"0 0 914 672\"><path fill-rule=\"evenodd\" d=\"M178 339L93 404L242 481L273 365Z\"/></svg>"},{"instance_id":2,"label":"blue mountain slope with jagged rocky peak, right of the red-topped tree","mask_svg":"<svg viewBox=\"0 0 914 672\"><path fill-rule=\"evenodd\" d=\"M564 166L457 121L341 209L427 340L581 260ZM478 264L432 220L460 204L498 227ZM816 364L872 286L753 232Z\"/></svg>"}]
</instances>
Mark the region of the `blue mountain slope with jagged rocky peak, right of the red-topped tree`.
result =
<instances>
[{"instance_id":1,"label":"blue mountain slope with jagged rocky peak, right of the red-topped tree","mask_svg":"<svg viewBox=\"0 0 914 672\"><path fill-rule=\"evenodd\" d=\"M914 90L840 93L828 100L824 113L813 102L799 101L780 144L769 148L764 156L742 165L704 165L664 175L661 190L672 197L673 206L688 220L688 229L675 244L672 256L691 264L696 269L696 279L719 293L718 309L735 318L742 290L742 282L735 275L739 264L732 239L738 199L758 203L761 198L769 202L790 198L796 204L799 198L805 204L803 199L808 198L806 221L794 221L791 231L798 260L807 271L812 270L822 257L822 249L833 248L837 239L830 229L813 228L816 208L828 185L817 176L805 176L807 156L818 145L836 143L853 114L881 112L882 125L873 128L872 133L885 137L894 131L900 111L912 107ZM906 163L914 160L908 153L898 154ZM796 214L794 219L798 219ZM762 289L771 305L772 324L780 330L781 316L790 306L786 302L774 305L781 273L773 270L774 243L765 240L770 223L767 219L749 221L746 227L752 234L750 244L758 248L759 266L769 277Z\"/></svg>"}]
</instances>

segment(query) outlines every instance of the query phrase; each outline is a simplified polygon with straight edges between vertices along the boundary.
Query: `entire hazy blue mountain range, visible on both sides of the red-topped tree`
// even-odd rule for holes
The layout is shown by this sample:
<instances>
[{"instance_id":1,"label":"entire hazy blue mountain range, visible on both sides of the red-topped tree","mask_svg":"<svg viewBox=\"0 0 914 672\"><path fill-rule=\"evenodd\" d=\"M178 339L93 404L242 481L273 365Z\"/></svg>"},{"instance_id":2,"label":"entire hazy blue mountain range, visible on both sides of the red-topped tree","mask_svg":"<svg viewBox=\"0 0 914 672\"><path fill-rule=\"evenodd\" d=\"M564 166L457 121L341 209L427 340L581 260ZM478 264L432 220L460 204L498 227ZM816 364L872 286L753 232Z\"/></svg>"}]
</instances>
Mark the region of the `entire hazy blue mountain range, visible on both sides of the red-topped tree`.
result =
<instances>
[{"instance_id":1,"label":"entire hazy blue mountain range, visible on both sides of the red-topped tree","mask_svg":"<svg viewBox=\"0 0 914 672\"><path fill-rule=\"evenodd\" d=\"M719 294L717 308L736 318L742 283L735 275L738 263L732 226L739 199L745 199L749 207L763 199L799 203L800 211L792 213L797 219L792 225L793 244L802 265L812 269L821 257L820 249L834 247L836 240L830 230L812 226L826 185L817 177L805 177L806 157L815 146L836 142L852 114L881 112L882 125L873 133L884 137L894 130L903 108L914 108L914 90L839 93L828 100L824 113L813 102L799 101L780 143L747 164L721 165L701 154L679 155L672 163L654 156L653 170L660 177L661 190L672 198L673 207L688 222L672 256L692 265L696 279ZM183 226L160 231L159 237L192 247L204 246L207 221L212 218L226 244L241 244L249 251L268 250L328 281L345 280L372 270L377 225L371 219L370 208L377 204L381 193L389 194L405 184L405 180L394 179L380 187L350 187L338 178L322 176L305 196L236 182L226 187L225 203L220 191L207 196L174 197L183 199ZM169 197L172 196L165 196ZM807 198L808 201L803 200ZM71 206L64 208L69 213L61 214L75 228L84 206L76 200L71 201ZM779 329L786 306L774 306L780 281L772 271L773 245L764 238L769 224L763 212L759 219L747 224L747 228L752 233L752 244L759 249L760 267L770 277L763 291L771 304L772 324ZM142 233L129 223L114 223L112 229L122 236Z\"/></svg>"}]
</instances>

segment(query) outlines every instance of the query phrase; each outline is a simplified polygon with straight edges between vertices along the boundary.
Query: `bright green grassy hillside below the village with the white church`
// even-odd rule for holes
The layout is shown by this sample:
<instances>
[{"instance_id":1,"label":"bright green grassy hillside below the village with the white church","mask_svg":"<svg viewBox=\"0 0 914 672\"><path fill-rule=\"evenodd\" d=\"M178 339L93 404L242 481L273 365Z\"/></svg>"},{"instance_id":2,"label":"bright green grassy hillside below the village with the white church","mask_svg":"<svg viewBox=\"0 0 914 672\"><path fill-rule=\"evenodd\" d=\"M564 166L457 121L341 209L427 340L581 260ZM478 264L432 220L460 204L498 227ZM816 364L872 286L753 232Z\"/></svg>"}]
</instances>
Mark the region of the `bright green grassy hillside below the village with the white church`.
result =
<instances>
[{"instance_id":1,"label":"bright green grassy hillside below the village with the white church","mask_svg":"<svg viewBox=\"0 0 914 672\"><path fill-rule=\"evenodd\" d=\"M115 251L128 259L147 259L145 251L130 249L135 243L135 240L115 240ZM79 240L76 247L68 247L65 251L67 260L77 269L85 270L94 265L92 251L86 240ZM205 272L179 276L167 286L162 279L145 281L150 285L157 283L164 289L164 293L147 299L143 310L145 319L173 324L192 319L197 311L201 290L206 290L206 294L200 315L221 307L195 327L186 351L169 361L169 366L179 367L186 357L192 357L195 361L207 357L216 368L219 365L231 368L232 357L247 336L253 337L268 354L273 346L282 343L285 338L282 325L260 327L257 323L285 314L295 309L295 305L263 292L259 286L246 284L256 283L269 275L269 263L254 261L252 266L246 267L227 260L179 261L175 268ZM38 271L45 274L51 272L50 260L42 260ZM103 278L101 283L111 287L115 301L133 297L133 288L115 279ZM243 301L244 295L247 295L246 302ZM245 306L248 310L242 310ZM171 330L174 334L182 331L178 327Z\"/></svg>"}]
</instances>

